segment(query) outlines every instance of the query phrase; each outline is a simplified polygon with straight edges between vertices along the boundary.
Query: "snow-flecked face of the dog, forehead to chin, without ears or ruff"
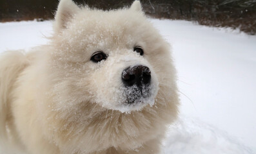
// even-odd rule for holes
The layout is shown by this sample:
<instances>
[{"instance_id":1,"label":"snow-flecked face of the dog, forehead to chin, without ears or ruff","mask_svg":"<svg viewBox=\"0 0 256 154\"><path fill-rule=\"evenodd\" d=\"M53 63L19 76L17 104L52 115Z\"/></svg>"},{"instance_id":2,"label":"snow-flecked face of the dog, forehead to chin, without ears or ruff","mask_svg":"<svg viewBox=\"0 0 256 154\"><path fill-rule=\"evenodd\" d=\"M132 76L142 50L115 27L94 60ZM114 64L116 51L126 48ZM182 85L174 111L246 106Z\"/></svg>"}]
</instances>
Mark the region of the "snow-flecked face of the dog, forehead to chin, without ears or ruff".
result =
<instances>
[{"instance_id":1,"label":"snow-flecked face of the dog, forehead to chin, without ears or ruff","mask_svg":"<svg viewBox=\"0 0 256 154\"><path fill-rule=\"evenodd\" d=\"M67 79L76 81L74 90L89 89L90 94L81 97L111 110L130 112L152 106L159 83L151 61L160 51L152 48L159 46L153 40L157 34L143 12L77 9L57 30L55 52L61 67L70 64L64 73L72 72Z\"/></svg>"}]
</instances>

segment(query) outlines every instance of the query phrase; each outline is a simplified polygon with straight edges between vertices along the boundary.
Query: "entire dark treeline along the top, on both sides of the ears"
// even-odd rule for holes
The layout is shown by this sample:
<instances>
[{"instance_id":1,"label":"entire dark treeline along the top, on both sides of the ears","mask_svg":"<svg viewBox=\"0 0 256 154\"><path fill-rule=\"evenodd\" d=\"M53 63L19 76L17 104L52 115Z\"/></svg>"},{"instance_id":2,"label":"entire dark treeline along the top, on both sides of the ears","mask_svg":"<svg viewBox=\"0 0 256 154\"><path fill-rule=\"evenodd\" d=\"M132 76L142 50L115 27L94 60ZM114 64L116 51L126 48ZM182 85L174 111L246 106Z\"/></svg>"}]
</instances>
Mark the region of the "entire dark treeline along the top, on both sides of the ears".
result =
<instances>
[{"instance_id":1,"label":"entire dark treeline along the top, on both sides of the ears","mask_svg":"<svg viewBox=\"0 0 256 154\"><path fill-rule=\"evenodd\" d=\"M74 0L110 10L130 6L133 0ZM0 21L52 19L57 0L1 0ZM144 12L157 18L185 19L210 26L240 28L256 33L256 0L141 0Z\"/></svg>"}]
</instances>

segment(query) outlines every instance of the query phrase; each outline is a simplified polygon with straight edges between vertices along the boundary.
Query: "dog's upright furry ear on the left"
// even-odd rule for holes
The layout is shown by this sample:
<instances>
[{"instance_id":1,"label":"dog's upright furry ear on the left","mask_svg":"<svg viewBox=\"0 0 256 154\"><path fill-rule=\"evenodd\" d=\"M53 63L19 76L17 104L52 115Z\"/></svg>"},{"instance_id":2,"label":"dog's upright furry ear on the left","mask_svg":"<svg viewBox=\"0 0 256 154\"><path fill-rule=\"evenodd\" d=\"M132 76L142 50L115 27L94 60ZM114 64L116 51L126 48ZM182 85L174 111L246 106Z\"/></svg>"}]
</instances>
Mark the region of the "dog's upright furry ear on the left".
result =
<instances>
[{"instance_id":1,"label":"dog's upright furry ear on the left","mask_svg":"<svg viewBox=\"0 0 256 154\"><path fill-rule=\"evenodd\" d=\"M54 31L59 32L66 28L66 22L72 19L80 8L72 0L61 0L55 14Z\"/></svg>"}]
</instances>

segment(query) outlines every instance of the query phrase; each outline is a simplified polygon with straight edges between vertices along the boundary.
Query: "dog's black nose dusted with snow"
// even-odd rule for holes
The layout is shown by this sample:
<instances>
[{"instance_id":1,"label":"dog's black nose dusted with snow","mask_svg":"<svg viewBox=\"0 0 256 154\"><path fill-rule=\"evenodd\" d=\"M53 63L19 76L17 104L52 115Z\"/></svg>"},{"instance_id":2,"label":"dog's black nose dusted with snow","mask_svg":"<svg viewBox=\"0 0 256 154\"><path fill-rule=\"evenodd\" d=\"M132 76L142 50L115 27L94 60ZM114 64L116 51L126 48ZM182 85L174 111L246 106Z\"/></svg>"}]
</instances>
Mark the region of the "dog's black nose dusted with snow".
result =
<instances>
[{"instance_id":1,"label":"dog's black nose dusted with snow","mask_svg":"<svg viewBox=\"0 0 256 154\"><path fill-rule=\"evenodd\" d=\"M146 85L150 83L151 72L150 69L143 65L135 65L124 69L122 73L122 80L126 86L132 85Z\"/></svg>"}]
</instances>

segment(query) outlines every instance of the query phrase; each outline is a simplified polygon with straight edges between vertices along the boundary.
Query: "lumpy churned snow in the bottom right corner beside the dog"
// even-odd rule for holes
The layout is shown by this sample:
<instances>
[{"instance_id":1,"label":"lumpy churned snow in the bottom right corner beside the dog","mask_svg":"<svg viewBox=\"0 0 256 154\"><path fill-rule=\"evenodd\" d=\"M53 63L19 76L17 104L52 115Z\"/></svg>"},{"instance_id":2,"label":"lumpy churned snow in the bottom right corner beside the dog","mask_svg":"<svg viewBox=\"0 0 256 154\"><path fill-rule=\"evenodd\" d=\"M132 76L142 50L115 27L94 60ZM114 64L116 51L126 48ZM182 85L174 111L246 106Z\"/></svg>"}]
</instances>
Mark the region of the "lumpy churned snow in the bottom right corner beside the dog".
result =
<instances>
[{"instance_id":1,"label":"lumpy churned snow in the bottom right corner beside the dog","mask_svg":"<svg viewBox=\"0 0 256 154\"><path fill-rule=\"evenodd\" d=\"M210 124L199 119L181 117L170 126L164 141L163 153L168 154L246 154L250 148L241 144L235 137L230 137Z\"/></svg>"}]
</instances>

